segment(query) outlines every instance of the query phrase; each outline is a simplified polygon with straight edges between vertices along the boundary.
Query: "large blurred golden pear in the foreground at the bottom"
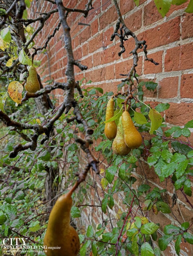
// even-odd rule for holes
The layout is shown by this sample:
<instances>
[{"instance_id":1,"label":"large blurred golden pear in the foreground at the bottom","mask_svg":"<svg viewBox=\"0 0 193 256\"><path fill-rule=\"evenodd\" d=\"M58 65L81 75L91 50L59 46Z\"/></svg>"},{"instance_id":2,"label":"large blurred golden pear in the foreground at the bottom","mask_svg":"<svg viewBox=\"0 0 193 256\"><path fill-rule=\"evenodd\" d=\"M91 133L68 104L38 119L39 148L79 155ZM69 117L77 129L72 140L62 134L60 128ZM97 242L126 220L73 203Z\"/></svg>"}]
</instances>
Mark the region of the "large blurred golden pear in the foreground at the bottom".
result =
<instances>
[{"instance_id":1,"label":"large blurred golden pear in the foreground at the bottom","mask_svg":"<svg viewBox=\"0 0 193 256\"><path fill-rule=\"evenodd\" d=\"M70 226L71 194L70 191L60 196L50 213L44 237L44 251L47 256L76 256L79 252L78 234ZM52 250L48 249L49 247L61 247L61 249Z\"/></svg>"}]
</instances>

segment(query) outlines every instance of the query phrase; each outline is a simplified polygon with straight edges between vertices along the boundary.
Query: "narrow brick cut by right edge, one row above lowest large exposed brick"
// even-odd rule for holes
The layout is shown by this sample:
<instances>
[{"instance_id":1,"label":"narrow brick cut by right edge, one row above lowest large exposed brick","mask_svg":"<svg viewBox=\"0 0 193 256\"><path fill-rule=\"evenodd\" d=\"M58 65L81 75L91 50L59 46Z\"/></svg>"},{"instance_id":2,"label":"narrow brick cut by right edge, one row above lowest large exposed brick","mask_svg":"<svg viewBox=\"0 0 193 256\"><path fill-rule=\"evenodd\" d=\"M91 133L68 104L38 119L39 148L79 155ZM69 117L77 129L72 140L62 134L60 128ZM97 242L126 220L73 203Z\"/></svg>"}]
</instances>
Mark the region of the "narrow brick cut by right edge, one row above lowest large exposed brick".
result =
<instances>
[{"instance_id":1,"label":"narrow brick cut by right edge, one row above lowest large exposed brick","mask_svg":"<svg viewBox=\"0 0 193 256\"><path fill-rule=\"evenodd\" d=\"M180 83L180 97L193 98L193 74L183 74Z\"/></svg>"}]
</instances>

